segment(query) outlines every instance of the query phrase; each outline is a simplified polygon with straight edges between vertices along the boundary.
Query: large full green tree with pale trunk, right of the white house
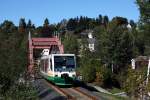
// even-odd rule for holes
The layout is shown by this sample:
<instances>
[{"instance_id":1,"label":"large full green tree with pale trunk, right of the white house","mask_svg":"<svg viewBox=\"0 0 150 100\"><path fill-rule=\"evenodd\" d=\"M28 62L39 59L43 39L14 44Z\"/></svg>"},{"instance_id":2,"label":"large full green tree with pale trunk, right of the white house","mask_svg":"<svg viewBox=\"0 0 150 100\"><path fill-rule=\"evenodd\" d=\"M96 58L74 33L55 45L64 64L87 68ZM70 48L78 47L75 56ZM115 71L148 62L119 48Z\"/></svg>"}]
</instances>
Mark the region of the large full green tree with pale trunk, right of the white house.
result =
<instances>
[{"instance_id":1,"label":"large full green tree with pale trunk, right of the white house","mask_svg":"<svg viewBox=\"0 0 150 100\"><path fill-rule=\"evenodd\" d=\"M122 86L124 78L121 80L118 76L125 76L127 65L134 55L134 36L126 27L127 21L122 19L123 21L114 18L107 28L101 25L94 29L97 40L96 54L101 63L108 68L107 74L102 74L105 86Z\"/></svg>"}]
</instances>

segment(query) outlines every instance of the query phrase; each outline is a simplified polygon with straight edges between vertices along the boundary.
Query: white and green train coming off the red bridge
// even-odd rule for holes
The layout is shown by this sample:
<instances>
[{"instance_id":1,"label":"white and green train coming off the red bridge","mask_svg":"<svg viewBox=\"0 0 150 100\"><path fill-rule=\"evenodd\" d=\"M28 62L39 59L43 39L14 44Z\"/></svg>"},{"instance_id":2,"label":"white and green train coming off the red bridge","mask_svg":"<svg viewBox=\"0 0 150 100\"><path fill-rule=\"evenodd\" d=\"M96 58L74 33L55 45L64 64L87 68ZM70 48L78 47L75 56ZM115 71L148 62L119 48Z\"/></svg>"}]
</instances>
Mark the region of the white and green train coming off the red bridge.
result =
<instances>
[{"instance_id":1,"label":"white and green train coming off the red bridge","mask_svg":"<svg viewBox=\"0 0 150 100\"><path fill-rule=\"evenodd\" d=\"M44 50L39 66L40 74L55 85L73 85L76 80L75 54L49 54Z\"/></svg>"}]
</instances>

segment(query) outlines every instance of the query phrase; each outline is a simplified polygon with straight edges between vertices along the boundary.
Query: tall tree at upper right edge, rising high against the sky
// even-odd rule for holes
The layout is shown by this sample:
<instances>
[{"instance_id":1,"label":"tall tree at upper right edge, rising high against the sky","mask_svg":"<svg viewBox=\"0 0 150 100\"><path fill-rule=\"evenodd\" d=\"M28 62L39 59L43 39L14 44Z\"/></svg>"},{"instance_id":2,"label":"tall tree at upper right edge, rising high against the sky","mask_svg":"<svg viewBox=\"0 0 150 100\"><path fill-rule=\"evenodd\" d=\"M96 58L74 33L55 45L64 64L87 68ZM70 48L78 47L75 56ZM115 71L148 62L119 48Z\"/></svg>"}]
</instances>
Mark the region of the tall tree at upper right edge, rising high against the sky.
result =
<instances>
[{"instance_id":1,"label":"tall tree at upper right edge, rising high against the sky","mask_svg":"<svg viewBox=\"0 0 150 100\"><path fill-rule=\"evenodd\" d=\"M150 55L150 1L136 0L140 10L140 21L138 35L141 38L141 45L138 48L143 50L143 55ZM143 45L143 46L142 46Z\"/></svg>"}]
</instances>

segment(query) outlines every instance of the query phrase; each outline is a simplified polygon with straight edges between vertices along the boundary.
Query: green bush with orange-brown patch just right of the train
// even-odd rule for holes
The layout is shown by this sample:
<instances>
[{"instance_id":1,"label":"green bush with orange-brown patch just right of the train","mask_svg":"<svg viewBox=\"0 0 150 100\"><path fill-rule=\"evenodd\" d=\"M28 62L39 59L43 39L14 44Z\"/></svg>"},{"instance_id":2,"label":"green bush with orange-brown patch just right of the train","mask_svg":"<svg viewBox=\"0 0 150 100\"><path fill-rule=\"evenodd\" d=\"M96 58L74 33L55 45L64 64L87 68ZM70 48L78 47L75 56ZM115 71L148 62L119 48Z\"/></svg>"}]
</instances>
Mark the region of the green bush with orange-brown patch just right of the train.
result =
<instances>
[{"instance_id":1,"label":"green bush with orange-brown patch just right of the train","mask_svg":"<svg viewBox=\"0 0 150 100\"><path fill-rule=\"evenodd\" d=\"M97 85L103 84L103 69L101 63L95 58L95 54L84 49L81 54L80 72L85 82L95 82Z\"/></svg>"}]
</instances>

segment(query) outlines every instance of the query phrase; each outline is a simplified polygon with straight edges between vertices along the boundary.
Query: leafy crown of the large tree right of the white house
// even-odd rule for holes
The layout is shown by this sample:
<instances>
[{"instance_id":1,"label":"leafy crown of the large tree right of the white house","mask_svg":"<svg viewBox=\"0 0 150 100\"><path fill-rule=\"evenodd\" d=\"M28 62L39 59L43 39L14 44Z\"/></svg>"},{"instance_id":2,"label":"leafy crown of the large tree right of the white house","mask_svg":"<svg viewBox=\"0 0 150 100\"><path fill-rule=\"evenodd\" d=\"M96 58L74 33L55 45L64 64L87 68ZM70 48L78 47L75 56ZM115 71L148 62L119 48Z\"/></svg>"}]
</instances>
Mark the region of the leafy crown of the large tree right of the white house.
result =
<instances>
[{"instance_id":1,"label":"leafy crown of the large tree right of the white house","mask_svg":"<svg viewBox=\"0 0 150 100\"><path fill-rule=\"evenodd\" d=\"M95 29L100 59L113 65L114 71L123 69L133 56L133 34L126 27L126 19L114 18L107 29Z\"/></svg>"}]
</instances>

